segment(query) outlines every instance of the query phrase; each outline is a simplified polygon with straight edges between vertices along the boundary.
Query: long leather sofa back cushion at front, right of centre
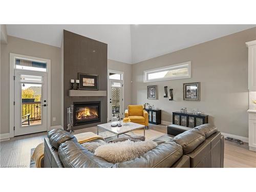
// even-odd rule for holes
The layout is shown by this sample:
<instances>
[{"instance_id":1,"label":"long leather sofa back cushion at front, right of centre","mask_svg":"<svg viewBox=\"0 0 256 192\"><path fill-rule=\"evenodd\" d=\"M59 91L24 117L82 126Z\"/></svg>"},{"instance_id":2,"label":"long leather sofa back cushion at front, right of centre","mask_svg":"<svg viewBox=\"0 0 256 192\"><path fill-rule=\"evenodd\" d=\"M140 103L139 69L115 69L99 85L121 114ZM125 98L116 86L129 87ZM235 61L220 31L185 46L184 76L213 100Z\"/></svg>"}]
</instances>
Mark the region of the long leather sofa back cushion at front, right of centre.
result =
<instances>
[{"instance_id":1,"label":"long leather sofa back cushion at front, right of centre","mask_svg":"<svg viewBox=\"0 0 256 192\"><path fill-rule=\"evenodd\" d=\"M171 167L182 157L182 146L173 142L164 142L153 150L130 161L114 164L114 167Z\"/></svg>"}]
</instances>

